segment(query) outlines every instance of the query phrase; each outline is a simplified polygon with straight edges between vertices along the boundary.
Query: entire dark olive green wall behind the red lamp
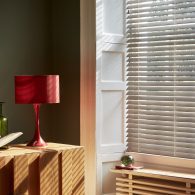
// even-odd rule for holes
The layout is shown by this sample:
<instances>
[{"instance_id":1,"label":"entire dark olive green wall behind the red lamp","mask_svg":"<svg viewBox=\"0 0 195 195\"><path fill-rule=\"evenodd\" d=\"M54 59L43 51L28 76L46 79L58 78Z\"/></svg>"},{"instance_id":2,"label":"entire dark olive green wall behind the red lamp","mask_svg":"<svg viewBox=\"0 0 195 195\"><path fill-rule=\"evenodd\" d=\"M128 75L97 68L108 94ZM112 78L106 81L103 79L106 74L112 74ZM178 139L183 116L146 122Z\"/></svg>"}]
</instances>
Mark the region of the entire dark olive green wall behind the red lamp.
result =
<instances>
[{"instance_id":1,"label":"entire dark olive green wall behind the red lamp","mask_svg":"<svg viewBox=\"0 0 195 195\"><path fill-rule=\"evenodd\" d=\"M14 103L14 75L60 74L61 103L41 107L42 135L79 144L79 20L79 0L0 0L0 101L21 142L32 137L34 113Z\"/></svg>"}]
</instances>

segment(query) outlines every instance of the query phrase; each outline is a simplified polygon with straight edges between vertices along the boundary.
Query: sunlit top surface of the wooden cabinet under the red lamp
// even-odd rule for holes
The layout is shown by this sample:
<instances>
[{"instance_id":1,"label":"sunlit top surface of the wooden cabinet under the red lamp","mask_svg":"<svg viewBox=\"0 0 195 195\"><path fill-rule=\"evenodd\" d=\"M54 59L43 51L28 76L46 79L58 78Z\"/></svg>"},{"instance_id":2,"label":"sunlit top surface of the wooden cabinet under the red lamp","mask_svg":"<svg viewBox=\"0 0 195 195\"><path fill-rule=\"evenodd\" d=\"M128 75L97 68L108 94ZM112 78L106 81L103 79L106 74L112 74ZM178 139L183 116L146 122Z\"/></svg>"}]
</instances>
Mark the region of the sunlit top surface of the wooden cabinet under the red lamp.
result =
<instances>
[{"instance_id":1,"label":"sunlit top surface of the wooden cabinet under the red lamp","mask_svg":"<svg viewBox=\"0 0 195 195\"><path fill-rule=\"evenodd\" d=\"M17 144L9 146L8 149L0 150L0 157L13 157L17 155L43 153L43 152L58 152L69 149L82 148L82 146L73 146L59 143L47 143L45 147L30 147L25 144Z\"/></svg>"}]
</instances>

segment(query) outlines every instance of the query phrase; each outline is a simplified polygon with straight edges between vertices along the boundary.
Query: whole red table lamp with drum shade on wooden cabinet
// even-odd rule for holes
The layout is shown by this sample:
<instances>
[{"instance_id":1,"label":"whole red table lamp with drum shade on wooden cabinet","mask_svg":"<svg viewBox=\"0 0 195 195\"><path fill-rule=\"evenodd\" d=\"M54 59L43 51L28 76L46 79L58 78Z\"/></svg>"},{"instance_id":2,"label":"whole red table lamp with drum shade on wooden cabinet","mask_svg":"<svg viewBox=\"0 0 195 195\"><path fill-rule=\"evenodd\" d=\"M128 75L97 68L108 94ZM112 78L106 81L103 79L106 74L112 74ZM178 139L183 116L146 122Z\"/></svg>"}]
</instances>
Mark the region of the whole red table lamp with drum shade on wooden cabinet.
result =
<instances>
[{"instance_id":1,"label":"whole red table lamp with drum shade on wooden cabinet","mask_svg":"<svg viewBox=\"0 0 195 195\"><path fill-rule=\"evenodd\" d=\"M15 76L15 103L33 104L35 111L35 133L28 146L47 145L40 134L40 105L59 103L59 94L59 75Z\"/></svg>"}]
</instances>

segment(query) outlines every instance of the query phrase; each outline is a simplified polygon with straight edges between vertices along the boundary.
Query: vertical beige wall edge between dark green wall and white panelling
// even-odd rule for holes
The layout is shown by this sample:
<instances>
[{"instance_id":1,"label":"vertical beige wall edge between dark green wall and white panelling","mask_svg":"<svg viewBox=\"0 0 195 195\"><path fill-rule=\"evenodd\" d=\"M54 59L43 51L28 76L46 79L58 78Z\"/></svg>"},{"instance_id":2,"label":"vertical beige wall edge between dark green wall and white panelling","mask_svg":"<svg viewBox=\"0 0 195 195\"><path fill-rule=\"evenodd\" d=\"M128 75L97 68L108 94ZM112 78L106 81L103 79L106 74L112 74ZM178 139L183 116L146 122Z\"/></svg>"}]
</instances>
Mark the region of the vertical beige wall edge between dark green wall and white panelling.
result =
<instances>
[{"instance_id":1,"label":"vertical beige wall edge between dark green wall and white panelling","mask_svg":"<svg viewBox=\"0 0 195 195\"><path fill-rule=\"evenodd\" d=\"M83 0L80 3L80 143L85 149L85 194L96 194L97 188L95 21L96 1Z\"/></svg>"}]
</instances>

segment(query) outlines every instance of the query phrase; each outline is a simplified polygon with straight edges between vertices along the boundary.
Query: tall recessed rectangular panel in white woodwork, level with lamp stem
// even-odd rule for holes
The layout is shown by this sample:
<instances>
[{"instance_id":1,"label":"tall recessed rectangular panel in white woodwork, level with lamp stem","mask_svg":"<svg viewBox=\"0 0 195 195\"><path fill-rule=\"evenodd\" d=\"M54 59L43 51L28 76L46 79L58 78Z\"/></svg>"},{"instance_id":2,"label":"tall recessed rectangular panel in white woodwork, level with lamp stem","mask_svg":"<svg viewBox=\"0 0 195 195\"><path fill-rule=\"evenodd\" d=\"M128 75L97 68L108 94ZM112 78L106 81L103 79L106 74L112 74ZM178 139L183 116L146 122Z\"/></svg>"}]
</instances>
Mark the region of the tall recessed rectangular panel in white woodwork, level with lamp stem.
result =
<instances>
[{"instance_id":1,"label":"tall recessed rectangular panel in white woodwork, level with lamp stem","mask_svg":"<svg viewBox=\"0 0 195 195\"><path fill-rule=\"evenodd\" d=\"M124 143L123 91L102 91L101 145Z\"/></svg>"}]
</instances>

